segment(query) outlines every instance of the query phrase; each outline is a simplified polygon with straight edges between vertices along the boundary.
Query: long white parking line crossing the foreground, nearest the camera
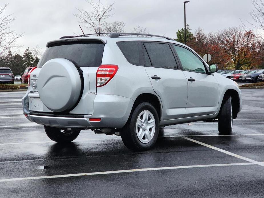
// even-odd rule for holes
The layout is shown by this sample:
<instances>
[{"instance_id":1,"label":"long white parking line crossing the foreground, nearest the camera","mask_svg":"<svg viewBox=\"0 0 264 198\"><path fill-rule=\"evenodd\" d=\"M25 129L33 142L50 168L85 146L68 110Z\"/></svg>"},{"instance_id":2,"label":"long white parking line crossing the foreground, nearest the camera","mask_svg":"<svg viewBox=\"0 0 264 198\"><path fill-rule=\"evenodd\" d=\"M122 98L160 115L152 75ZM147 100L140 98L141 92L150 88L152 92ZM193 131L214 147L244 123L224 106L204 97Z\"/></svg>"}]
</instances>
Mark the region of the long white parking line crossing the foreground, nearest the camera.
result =
<instances>
[{"instance_id":1,"label":"long white parking line crossing the foreground, nearest the camera","mask_svg":"<svg viewBox=\"0 0 264 198\"><path fill-rule=\"evenodd\" d=\"M205 164L205 165L191 165L191 166L170 166L170 167L157 167L157 168L140 168L140 169L128 169L128 170L116 170L116 171L103 171L103 172L92 172L92 173L76 173L66 175L49 175L49 176L38 176L38 177L18 177L10 179L0 179L0 182L5 181L21 181L31 179L49 179L49 178L61 178L61 177L77 177L87 175L106 175L114 173L130 173L140 171L158 171L158 170L171 170L171 169L185 169L185 168L202 168L202 167L221 167L221 166L239 166L239 165L255 165L259 163L229 163L229 164Z\"/></svg>"}]
</instances>

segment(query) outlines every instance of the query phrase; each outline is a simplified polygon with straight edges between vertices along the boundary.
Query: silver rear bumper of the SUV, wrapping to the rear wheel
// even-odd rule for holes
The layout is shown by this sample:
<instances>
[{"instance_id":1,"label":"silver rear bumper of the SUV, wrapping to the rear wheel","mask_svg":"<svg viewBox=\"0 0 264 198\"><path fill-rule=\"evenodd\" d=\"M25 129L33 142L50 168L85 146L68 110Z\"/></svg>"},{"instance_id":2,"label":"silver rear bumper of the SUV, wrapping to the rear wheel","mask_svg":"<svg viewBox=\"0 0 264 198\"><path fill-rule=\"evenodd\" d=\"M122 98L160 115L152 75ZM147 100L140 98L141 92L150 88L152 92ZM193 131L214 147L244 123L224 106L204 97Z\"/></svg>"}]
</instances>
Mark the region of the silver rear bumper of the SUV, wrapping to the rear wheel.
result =
<instances>
[{"instance_id":1,"label":"silver rear bumper of the SUV, wrapping to the rear wheel","mask_svg":"<svg viewBox=\"0 0 264 198\"><path fill-rule=\"evenodd\" d=\"M27 119L37 124L58 128L122 128L130 115L134 100L116 95L96 95L92 114L67 114L33 112L29 110L28 92L22 99ZM101 118L100 122L91 122L89 118Z\"/></svg>"}]
</instances>

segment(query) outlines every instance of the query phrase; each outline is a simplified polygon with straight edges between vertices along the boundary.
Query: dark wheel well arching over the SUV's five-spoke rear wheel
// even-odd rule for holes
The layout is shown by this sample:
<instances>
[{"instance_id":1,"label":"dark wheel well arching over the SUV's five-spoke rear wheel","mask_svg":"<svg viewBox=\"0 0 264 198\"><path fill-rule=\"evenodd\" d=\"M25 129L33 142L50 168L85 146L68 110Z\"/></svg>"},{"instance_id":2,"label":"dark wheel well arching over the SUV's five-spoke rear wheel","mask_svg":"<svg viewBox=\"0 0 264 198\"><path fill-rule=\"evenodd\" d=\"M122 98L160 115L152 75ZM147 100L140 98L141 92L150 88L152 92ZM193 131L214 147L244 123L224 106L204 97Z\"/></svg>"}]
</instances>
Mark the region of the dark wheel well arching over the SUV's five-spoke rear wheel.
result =
<instances>
[{"instance_id":1,"label":"dark wheel well arching over the SUV's five-spoke rear wheel","mask_svg":"<svg viewBox=\"0 0 264 198\"><path fill-rule=\"evenodd\" d=\"M133 108L141 102L149 102L150 104L152 104L157 110L159 119L161 119L161 105L160 105L160 101L157 96L155 96L154 94L149 94L149 93L140 94L136 98Z\"/></svg>"}]
</instances>

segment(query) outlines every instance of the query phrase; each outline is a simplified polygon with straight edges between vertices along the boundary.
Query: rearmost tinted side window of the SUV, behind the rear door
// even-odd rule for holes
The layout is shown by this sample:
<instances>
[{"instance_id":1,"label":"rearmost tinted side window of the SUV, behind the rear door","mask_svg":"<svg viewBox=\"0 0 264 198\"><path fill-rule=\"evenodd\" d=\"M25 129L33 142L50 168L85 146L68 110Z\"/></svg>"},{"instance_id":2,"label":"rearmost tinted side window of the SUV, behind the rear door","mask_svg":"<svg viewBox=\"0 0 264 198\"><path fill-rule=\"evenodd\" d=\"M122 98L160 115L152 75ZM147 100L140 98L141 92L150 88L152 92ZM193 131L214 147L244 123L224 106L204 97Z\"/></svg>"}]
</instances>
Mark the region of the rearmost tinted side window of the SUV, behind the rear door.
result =
<instances>
[{"instance_id":1,"label":"rearmost tinted side window of the SUV, behind the rear door","mask_svg":"<svg viewBox=\"0 0 264 198\"><path fill-rule=\"evenodd\" d=\"M121 41L117 42L126 60L134 65L144 66L143 50L141 41Z\"/></svg>"}]
</instances>

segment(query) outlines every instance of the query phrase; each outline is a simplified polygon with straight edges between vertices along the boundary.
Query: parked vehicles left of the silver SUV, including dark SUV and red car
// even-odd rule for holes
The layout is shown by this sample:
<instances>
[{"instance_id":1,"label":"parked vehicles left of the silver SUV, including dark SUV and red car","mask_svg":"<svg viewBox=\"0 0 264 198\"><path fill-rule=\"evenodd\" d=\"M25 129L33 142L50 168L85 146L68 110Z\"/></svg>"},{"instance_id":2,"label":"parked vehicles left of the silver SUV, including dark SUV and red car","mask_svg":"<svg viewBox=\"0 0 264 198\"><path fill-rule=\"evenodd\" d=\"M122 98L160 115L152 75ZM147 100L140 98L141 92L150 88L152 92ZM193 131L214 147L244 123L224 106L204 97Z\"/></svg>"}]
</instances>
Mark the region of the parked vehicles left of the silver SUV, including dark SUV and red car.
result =
<instances>
[{"instance_id":1,"label":"parked vehicles left of the silver SUV, including dark SUV and red car","mask_svg":"<svg viewBox=\"0 0 264 198\"><path fill-rule=\"evenodd\" d=\"M27 67L25 71L21 73L21 76L14 76L9 67L0 67L0 83L14 84L15 80L21 80L21 83L27 83L28 74L32 68L33 67Z\"/></svg>"}]
</instances>

